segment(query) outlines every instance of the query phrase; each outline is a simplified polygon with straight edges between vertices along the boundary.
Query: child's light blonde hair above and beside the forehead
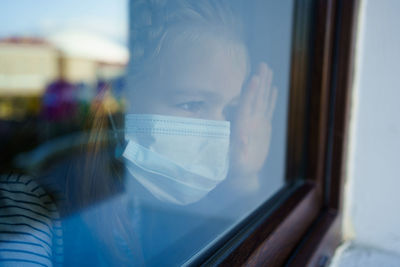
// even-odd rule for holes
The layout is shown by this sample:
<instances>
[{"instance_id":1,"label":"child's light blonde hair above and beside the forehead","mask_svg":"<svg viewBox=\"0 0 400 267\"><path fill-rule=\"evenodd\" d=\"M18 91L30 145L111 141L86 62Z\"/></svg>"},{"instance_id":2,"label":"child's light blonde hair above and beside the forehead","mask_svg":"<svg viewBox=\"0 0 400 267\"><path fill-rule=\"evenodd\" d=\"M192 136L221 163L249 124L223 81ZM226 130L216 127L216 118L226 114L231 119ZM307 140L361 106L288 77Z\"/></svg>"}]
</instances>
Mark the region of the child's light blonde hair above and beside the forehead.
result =
<instances>
[{"instance_id":1,"label":"child's light blonde hair above and beside the forehead","mask_svg":"<svg viewBox=\"0 0 400 267\"><path fill-rule=\"evenodd\" d=\"M131 3L131 60L127 70L131 84L140 84L159 73L162 52L168 45L174 45L177 38L196 42L212 34L219 40L243 43L241 21L227 0L134 0Z\"/></svg>"}]
</instances>

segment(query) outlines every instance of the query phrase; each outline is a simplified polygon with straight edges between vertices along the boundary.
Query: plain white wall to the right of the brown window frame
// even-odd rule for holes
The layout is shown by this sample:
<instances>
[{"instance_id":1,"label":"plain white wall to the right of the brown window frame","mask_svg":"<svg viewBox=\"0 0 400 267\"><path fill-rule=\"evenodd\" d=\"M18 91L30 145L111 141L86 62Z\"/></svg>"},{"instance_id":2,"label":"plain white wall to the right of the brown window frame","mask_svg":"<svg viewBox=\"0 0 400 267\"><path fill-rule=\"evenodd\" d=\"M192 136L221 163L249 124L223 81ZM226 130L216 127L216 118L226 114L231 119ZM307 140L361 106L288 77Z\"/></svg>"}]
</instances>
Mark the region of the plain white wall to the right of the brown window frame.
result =
<instances>
[{"instance_id":1,"label":"plain white wall to the right of the brown window frame","mask_svg":"<svg viewBox=\"0 0 400 267\"><path fill-rule=\"evenodd\" d=\"M400 1L362 1L345 237L400 254Z\"/></svg>"}]
</instances>

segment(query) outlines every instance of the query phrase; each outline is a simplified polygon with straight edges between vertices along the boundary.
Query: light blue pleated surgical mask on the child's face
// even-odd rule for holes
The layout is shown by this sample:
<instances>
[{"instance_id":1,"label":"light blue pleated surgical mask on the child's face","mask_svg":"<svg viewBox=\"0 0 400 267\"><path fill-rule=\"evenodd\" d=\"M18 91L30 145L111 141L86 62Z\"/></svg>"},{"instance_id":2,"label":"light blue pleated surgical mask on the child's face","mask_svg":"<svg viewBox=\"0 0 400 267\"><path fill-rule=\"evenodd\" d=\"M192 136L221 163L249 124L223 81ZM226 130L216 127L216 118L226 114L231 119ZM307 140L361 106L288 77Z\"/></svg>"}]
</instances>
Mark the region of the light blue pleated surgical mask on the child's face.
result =
<instances>
[{"instance_id":1,"label":"light blue pleated surgical mask on the child's face","mask_svg":"<svg viewBox=\"0 0 400 267\"><path fill-rule=\"evenodd\" d=\"M128 114L123 153L129 173L161 201L194 203L229 168L228 121Z\"/></svg>"}]
</instances>

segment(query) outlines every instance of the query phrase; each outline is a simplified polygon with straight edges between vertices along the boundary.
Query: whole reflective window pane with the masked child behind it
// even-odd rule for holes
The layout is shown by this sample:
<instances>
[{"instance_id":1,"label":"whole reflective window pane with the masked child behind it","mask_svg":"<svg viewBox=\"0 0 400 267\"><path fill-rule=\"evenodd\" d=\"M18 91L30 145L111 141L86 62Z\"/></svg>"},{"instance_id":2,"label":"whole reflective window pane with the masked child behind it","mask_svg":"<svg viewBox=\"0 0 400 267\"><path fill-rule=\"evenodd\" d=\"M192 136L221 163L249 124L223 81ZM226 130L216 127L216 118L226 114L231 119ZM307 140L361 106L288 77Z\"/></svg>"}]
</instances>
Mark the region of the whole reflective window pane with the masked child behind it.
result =
<instances>
[{"instance_id":1,"label":"whole reflective window pane with the masked child behind it","mask_svg":"<svg viewBox=\"0 0 400 267\"><path fill-rule=\"evenodd\" d=\"M0 261L181 265L270 199L293 2L5 1Z\"/></svg>"}]
</instances>

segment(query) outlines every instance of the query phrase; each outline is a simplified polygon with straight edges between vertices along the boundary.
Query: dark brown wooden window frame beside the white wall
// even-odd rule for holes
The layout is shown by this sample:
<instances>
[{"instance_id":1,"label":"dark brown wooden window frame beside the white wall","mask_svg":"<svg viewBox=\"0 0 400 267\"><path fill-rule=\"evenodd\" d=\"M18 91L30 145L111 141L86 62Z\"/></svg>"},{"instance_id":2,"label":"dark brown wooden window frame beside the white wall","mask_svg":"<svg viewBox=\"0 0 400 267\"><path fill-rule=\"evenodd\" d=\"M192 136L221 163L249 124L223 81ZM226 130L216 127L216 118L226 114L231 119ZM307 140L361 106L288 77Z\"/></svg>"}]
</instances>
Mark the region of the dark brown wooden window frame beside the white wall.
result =
<instances>
[{"instance_id":1,"label":"dark brown wooden window frame beside the white wall","mask_svg":"<svg viewBox=\"0 0 400 267\"><path fill-rule=\"evenodd\" d=\"M341 242L358 7L295 1L287 187L191 265L324 266L332 256Z\"/></svg>"}]
</instances>

